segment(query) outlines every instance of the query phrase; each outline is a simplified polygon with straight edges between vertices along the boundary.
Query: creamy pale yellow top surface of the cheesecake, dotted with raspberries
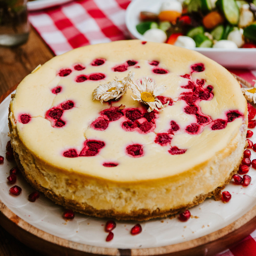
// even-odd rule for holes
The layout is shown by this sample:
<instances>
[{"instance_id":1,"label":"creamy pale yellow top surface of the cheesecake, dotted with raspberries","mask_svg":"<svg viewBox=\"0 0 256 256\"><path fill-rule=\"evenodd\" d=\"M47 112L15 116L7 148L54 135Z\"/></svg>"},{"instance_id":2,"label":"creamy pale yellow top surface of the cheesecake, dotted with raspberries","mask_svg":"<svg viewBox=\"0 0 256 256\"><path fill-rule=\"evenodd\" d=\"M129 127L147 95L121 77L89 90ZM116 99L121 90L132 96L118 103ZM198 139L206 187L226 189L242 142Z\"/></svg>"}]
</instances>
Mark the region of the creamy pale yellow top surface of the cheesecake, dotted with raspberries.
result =
<instances>
[{"instance_id":1,"label":"creamy pale yellow top surface of the cheesecake, dotted with raspberries","mask_svg":"<svg viewBox=\"0 0 256 256\"><path fill-rule=\"evenodd\" d=\"M97 87L127 75L137 95L128 86L116 100L93 100ZM165 90L148 94L143 81ZM149 112L138 95L164 106ZM198 168L225 150L246 115L240 84L225 68L195 51L140 40L56 56L24 78L10 103L19 140L42 163L121 183Z\"/></svg>"}]
</instances>

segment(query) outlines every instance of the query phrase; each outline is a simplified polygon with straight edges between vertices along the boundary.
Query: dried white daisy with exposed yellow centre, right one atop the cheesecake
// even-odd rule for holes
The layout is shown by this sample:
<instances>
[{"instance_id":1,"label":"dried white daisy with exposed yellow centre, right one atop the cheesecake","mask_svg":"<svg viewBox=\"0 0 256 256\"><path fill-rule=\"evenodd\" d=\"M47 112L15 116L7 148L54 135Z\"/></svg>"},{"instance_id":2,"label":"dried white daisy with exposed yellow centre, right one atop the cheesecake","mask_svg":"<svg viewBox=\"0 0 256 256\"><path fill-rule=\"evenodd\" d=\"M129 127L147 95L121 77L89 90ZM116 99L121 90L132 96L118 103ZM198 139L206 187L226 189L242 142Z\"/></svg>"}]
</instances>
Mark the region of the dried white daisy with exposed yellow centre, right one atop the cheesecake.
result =
<instances>
[{"instance_id":1,"label":"dried white daisy with exposed yellow centre, right one atop the cheesecake","mask_svg":"<svg viewBox=\"0 0 256 256\"><path fill-rule=\"evenodd\" d=\"M166 90L164 85L157 87L156 84L150 78L142 78L140 82L137 80L137 84L135 82L130 83L129 89L132 90L133 94L137 97L134 100L140 101L149 106L148 112L158 110L159 108L164 108L169 104L169 101L166 104L162 104L160 100L156 98L156 96L160 95Z\"/></svg>"}]
</instances>

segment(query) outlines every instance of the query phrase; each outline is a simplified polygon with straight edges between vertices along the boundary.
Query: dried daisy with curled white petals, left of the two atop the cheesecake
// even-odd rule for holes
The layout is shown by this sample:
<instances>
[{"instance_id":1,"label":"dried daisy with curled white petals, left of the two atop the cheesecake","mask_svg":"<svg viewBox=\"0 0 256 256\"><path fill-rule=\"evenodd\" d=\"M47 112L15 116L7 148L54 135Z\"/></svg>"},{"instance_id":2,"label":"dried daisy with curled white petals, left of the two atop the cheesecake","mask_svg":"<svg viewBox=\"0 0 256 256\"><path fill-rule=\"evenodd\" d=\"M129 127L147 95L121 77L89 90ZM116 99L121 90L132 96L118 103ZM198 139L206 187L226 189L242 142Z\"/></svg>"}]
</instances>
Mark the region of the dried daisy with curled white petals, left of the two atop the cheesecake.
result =
<instances>
[{"instance_id":1,"label":"dried daisy with curled white petals, left of the two atop the cheesecake","mask_svg":"<svg viewBox=\"0 0 256 256\"><path fill-rule=\"evenodd\" d=\"M133 79L133 76L134 74L129 72L129 74L122 80L119 80L118 77L115 77L113 81L100 84L92 92L93 100L99 100L101 104L103 101L108 101L111 99L117 100L126 93L129 80Z\"/></svg>"}]
</instances>

